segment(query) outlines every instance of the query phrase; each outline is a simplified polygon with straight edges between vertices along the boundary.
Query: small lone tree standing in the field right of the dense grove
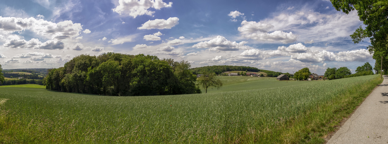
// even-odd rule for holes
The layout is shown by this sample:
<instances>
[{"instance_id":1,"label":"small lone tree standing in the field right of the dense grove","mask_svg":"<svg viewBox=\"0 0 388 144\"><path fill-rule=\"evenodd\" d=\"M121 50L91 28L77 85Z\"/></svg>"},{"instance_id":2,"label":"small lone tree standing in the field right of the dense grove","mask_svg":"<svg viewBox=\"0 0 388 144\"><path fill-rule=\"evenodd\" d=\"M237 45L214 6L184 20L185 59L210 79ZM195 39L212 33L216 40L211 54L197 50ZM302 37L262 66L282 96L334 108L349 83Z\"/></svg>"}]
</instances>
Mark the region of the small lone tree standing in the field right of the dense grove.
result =
<instances>
[{"instance_id":1,"label":"small lone tree standing in the field right of the dense grove","mask_svg":"<svg viewBox=\"0 0 388 144\"><path fill-rule=\"evenodd\" d=\"M221 80L217 79L215 73L210 72L202 72L203 76L198 77L197 81L199 85L201 85L205 89L205 93L208 93L208 87L217 87L217 89L220 89L222 87Z\"/></svg>"}]
</instances>

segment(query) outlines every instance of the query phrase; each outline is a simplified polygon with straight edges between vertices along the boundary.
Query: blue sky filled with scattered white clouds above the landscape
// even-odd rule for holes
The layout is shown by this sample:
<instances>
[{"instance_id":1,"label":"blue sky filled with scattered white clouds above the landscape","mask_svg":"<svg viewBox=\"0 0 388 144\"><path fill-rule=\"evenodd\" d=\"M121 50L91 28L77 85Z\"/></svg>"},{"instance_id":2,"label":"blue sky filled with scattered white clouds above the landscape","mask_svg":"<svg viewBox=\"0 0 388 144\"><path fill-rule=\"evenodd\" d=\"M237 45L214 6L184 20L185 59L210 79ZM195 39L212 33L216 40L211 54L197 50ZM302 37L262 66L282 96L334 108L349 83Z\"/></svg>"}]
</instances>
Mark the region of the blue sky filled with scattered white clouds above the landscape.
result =
<instances>
[{"instance_id":1,"label":"blue sky filled with scattered white clouds above the landscape","mask_svg":"<svg viewBox=\"0 0 388 144\"><path fill-rule=\"evenodd\" d=\"M8 0L0 2L3 69L58 68L81 54L156 55L191 67L294 73L374 65L364 26L328 0Z\"/></svg>"}]
</instances>

